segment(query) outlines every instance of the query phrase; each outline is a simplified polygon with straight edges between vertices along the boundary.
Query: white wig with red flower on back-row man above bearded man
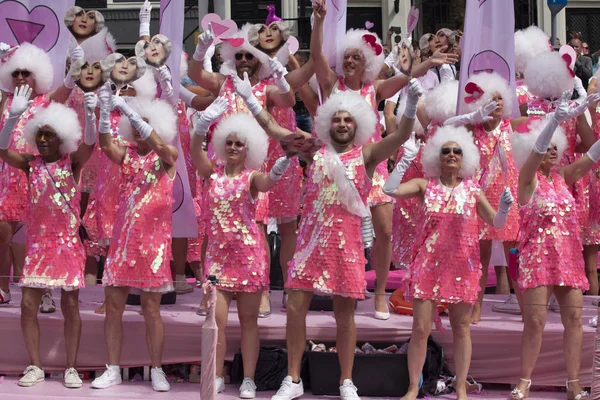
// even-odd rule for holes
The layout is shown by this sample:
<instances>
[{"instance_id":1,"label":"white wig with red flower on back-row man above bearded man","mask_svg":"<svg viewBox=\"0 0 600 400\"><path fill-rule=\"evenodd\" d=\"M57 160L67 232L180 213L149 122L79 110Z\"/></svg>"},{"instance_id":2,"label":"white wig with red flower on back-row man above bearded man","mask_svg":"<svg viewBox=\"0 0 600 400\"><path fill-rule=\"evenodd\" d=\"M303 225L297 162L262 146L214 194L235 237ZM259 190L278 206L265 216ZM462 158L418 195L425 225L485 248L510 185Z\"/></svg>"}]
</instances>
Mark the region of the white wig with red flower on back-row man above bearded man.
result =
<instances>
[{"instance_id":1,"label":"white wig with red flower on back-row man above bearded man","mask_svg":"<svg viewBox=\"0 0 600 400\"><path fill-rule=\"evenodd\" d=\"M383 46L381 47L381 53L377 55L375 50L363 39L364 35L371 35L375 38L377 45L381 45L379 36L373 32L369 32L366 29L350 29L346 32L346 36L342 41L342 45L338 47L338 65L342 65L344 61L344 54L350 49L358 49L360 53L365 57L365 73L363 81L373 82L377 79L383 62L385 61L385 54L383 54Z\"/></svg>"}]
</instances>

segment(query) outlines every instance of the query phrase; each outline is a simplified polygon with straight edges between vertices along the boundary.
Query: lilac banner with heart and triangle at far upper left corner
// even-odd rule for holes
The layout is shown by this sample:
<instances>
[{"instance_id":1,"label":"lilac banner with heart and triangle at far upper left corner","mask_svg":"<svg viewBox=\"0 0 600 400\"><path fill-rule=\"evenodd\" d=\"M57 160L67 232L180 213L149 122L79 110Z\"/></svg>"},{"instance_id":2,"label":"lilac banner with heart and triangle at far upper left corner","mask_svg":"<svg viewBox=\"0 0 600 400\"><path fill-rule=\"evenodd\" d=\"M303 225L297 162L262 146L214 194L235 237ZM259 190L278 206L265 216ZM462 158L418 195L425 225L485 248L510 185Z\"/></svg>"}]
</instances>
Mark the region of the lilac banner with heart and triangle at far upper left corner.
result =
<instances>
[{"instance_id":1,"label":"lilac banner with heart and triangle at far upper left corner","mask_svg":"<svg viewBox=\"0 0 600 400\"><path fill-rule=\"evenodd\" d=\"M65 78L71 32L63 23L65 11L75 0L0 0L0 42L17 46L29 42L43 49L52 60L54 82ZM6 88L2 88L6 89Z\"/></svg>"}]
</instances>

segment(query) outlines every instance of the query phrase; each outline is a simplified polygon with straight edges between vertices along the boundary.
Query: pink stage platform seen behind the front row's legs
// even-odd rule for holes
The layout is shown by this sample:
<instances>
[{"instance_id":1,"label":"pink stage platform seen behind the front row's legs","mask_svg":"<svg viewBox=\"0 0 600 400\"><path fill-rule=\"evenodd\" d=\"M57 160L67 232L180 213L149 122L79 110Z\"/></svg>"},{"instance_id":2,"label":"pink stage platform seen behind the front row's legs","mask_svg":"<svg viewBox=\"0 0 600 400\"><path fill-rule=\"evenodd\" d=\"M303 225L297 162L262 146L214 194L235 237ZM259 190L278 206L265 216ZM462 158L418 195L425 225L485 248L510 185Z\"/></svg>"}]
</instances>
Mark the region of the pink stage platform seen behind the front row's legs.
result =
<instances>
[{"instance_id":1,"label":"pink stage platform seen behind the front row's legs","mask_svg":"<svg viewBox=\"0 0 600 400\"><path fill-rule=\"evenodd\" d=\"M54 293L56 304L60 304ZM28 364L27 352L21 338L19 324L20 291L12 288L13 301L0 307L0 374L19 374ZM470 374L478 382L515 383L519 377L519 345L523 324L520 316L497 314L492 305L505 299L502 295L486 295L483 318L472 326L473 358ZM81 316L83 334L78 359L78 369L98 370L107 362L104 345L104 316L94 314L94 309L103 300L101 287L82 290ZM165 364L199 362L201 327L204 317L195 314L200 302L200 291L179 296L178 304L164 306L166 343L163 362ZM595 328L588 320L597 314L592 298L585 299L583 310L584 341L581 381L591 384L591 366L594 352ZM259 321L263 344L285 342L285 313L281 312L281 292L273 292L273 315ZM356 312L358 341L395 342L406 341L411 334L412 317L393 314L388 321L372 317L372 300L360 302ZM64 370L63 320L60 310L54 314L40 314L42 336L42 363L47 372ZM433 335L444 347L446 358L452 367L452 332L447 317L442 317L445 332L434 331ZM316 342L335 341L335 320L330 312L309 312L307 338ZM139 307L127 306L124 315L124 343L121 366L143 366L149 364L147 356L144 320ZM237 321L235 302L232 304L227 327L228 352L232 358L239 348L240 326ZM548 324L544 331L542 351L533 375L534 384L541 386L563 386L565 363L562 349L563 329L559 314L549 311ZM3 385L0 385L0 390ZM37 390L37 389L34 389Z\"/></svg>"}]
</instances>

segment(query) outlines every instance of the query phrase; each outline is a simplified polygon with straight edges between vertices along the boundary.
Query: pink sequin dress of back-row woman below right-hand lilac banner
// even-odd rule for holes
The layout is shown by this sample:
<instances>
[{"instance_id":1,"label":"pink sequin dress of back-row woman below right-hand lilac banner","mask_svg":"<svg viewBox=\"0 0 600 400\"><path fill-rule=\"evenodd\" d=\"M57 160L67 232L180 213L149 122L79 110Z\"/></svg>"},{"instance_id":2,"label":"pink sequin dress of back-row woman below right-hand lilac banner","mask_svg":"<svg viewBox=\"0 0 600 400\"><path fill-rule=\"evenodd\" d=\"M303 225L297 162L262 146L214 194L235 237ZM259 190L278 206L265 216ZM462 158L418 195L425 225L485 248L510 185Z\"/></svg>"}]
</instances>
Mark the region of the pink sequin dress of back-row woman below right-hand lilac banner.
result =
<instances>
[{"instance_id":1,"label":"pink sequin dress of back-row woman below right-hand lilac banner","mask_svg":"<svg viewBox=\"0 0 600 400\"><path fill-rule=\"evenodd\" d=\"M483 125L477 125L473 132L475 145L479 149L479 169L476 179L485 197L494 210L500 204L500 195L508 187L513 196L517 197L517 182L519 171L512 155L512 136L510 119L503 120L493 131L488 132ZM500 163L500 148L506 155L506 176ZM504 228L497 229L479 219L479 240L500 240L512 242L517 240L519 232L519 212L517 207L511 207Z\"/></svg>"}]
</instances>

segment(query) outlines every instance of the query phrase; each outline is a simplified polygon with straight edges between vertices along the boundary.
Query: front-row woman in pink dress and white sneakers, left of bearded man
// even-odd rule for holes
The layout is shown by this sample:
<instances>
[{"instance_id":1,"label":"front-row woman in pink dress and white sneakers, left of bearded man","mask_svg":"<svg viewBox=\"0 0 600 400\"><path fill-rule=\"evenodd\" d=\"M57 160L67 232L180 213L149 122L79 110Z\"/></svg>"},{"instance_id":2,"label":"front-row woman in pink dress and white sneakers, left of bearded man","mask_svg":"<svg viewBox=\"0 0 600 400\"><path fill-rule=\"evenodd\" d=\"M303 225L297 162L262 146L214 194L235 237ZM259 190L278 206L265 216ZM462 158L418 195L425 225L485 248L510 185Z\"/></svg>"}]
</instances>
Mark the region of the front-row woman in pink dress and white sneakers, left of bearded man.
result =
<instances>
[{"instance_id":1,"label":"front-row woman in pink dress and white sneakers, left of bearded man","mask_svg":"<svg viewBox=\"0 0 600 400\"><path fill-rule=\"evenodd\" d=\"M251 399L256 397L254 372L260 348L258 310L262 292L269 288L267 253L255 219L258 193L275 185L290 165L290 159L279 158L268 174L258 172L267 156L268 137L253 117L238 113L222 119L214 129L212 145L218 162L211 161L202 145L209 127L227 108L227 100L217 98L199 113L192 156L207 186L208 244L204 270L218 280L215 391L225 389L225 327L229 305L237 294L244 360L240 397Z\"/></svg>"}]
</instances>

